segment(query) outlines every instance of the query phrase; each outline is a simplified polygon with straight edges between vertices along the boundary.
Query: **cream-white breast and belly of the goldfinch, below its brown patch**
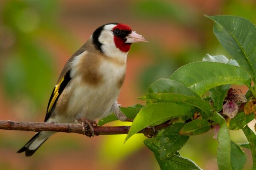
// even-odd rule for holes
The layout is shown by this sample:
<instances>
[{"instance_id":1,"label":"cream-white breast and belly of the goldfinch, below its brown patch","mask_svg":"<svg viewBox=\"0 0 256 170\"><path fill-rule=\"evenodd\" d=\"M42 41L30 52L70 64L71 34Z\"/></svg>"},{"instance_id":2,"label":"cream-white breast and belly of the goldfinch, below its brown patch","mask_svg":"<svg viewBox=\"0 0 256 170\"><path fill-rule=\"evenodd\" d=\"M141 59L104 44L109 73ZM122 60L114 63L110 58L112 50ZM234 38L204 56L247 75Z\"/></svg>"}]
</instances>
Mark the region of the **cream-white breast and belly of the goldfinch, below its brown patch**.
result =
<instances>
[{"instance_id":1,"label":"cream-white breast and belly of the goldfinch, below its brown patch","mask_svg":"<svg viewBox=\"0 0 256 170\"><path fill-rule=\"evenodd\" d=\"M110 114L110 110L120 92L118 81L124 75L126 65L116 65L108 60L103 60L99 67L102 74L102 83L89 85L81 82L81 77L76 77L70 101L68 113L76 119L85 117L87 119L101 119Z\"/></svg>"}]
</instances>

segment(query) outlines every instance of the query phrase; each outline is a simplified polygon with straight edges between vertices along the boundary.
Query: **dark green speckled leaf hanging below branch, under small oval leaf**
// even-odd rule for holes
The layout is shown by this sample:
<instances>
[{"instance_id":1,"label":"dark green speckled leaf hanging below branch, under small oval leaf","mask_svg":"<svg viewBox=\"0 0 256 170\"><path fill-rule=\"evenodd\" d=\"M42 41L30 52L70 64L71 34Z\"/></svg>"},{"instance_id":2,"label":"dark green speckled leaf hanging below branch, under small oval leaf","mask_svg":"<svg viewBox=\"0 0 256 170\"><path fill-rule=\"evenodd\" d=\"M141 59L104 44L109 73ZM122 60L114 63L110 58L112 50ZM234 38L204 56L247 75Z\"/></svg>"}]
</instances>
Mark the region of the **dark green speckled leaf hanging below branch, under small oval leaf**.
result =
<instances>
[{"instance_id":1,"label":"dark green speckled leaf hanging below branch, under small oval leaf","mask_svg":"<svg viewBox=\"0 0 256 170\"><path fill-rule=\"evenodd\" d=\"M160 159L168 159L173 156L189 139L189 136L180 136L179 131L185 123L175 123L163 130L163 133L157 135L160 138Z\"/></svg>"}]
</instances>

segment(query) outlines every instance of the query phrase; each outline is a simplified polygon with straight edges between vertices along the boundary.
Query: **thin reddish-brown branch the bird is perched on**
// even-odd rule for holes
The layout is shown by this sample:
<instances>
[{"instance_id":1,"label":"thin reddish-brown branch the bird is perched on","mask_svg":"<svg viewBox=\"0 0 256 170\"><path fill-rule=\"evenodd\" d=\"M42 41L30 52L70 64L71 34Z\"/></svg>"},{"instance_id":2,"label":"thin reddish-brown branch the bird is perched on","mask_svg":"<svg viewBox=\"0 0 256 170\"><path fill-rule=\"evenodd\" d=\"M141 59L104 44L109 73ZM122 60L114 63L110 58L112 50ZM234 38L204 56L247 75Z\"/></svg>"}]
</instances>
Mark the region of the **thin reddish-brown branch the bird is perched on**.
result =
<instances>
[{"instance_id":1,"label":"thin reddish-brown branch the bird is perched on","mask_svg":"<svg viewBox=\"0 0 256 170\"><path fill-rule=\"evenodd\" d=\"M161 130L169 126L170 121L154 127L146 127L138 133L143 133L147 137L154 136L157 130ZM34 123L34 122L13 122L10 120L0 121L0 129L4 130L25 130L25 131L54 131L65 133L87 134L88 129L85 129L80 123ZM99 135L118 135L128 134L130 126L93 126L95 136Z\"/></svg>"}]
</instances>

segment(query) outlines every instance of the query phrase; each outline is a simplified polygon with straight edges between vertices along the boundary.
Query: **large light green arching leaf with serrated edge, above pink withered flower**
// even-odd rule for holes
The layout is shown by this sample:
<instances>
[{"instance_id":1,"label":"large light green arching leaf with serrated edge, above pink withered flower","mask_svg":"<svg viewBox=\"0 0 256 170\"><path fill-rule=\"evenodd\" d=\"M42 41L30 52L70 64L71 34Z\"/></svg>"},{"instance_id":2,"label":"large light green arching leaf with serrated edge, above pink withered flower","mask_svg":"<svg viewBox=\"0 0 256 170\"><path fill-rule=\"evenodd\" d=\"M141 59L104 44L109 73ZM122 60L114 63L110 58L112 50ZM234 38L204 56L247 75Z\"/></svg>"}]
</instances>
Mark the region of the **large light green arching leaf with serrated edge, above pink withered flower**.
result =
<instances>
[{"instance_id":1,"label":"large light green arching leaf with serrated edge, above pink withered flower","mask_svg":"<svg viewBox=\"0 0 256 170\"><path fill-rule=\"evenodd\" d=\"M250 75L243 68L220 62L192 62L178 68L170 79L181 82L198 96L220 85L250 86Z\"/></svg>"}]
</instances>

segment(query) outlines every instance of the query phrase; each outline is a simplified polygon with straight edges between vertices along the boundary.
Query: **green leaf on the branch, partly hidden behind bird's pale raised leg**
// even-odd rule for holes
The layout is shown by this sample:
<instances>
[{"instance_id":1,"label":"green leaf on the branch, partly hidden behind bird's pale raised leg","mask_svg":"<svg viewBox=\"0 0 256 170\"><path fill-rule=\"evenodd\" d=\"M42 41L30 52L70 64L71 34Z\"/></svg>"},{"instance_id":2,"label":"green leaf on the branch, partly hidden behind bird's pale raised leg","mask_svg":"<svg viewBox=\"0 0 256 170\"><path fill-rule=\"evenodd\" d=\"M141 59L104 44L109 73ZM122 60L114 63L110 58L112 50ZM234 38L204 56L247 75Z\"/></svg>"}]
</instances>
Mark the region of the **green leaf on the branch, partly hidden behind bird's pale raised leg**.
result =
<instances>
[{"instance_id":1,"label":"green leaf on the branch, partly hidden behind bird's pale raised leg","mask_svg":"<svg viewBox=\"0 0 256 170\"><path fill-rule=\"evenodd\" d=\"M122 111L122 113L124 113L128 119L134 119L135 116L137 115L137 113L139 113L139 109L137 108L141 108L142 105L134 105L134 106L131 106L131 107L128 107L128 108L122 108L122 107L119 107L120 108L120 111ZM98 125L99 126L102 126L106 123L109 123L109 122L113 122L115 120L118 120L116 115L115 114L111 114L101 120L99 120L98 122Z\"/></svg>"}]
</instances>

